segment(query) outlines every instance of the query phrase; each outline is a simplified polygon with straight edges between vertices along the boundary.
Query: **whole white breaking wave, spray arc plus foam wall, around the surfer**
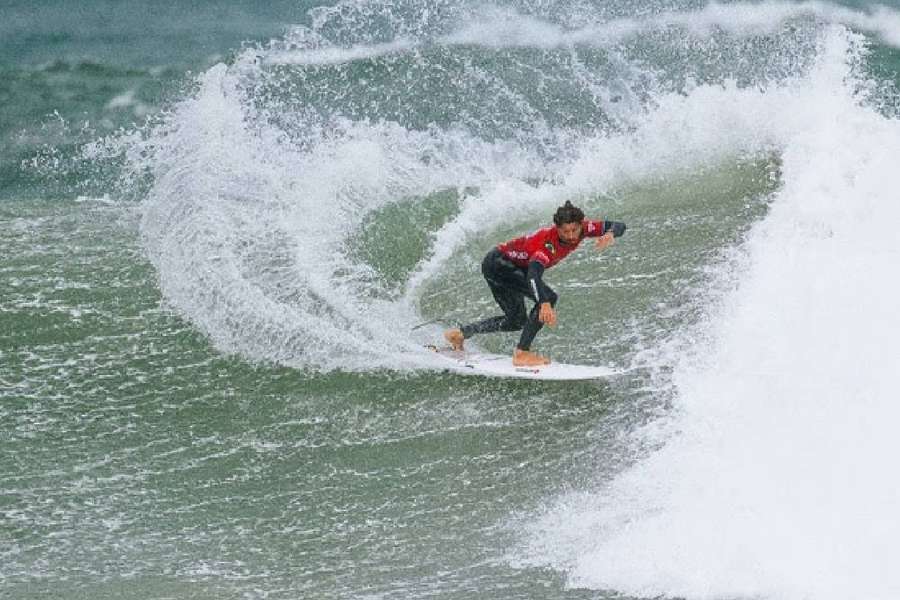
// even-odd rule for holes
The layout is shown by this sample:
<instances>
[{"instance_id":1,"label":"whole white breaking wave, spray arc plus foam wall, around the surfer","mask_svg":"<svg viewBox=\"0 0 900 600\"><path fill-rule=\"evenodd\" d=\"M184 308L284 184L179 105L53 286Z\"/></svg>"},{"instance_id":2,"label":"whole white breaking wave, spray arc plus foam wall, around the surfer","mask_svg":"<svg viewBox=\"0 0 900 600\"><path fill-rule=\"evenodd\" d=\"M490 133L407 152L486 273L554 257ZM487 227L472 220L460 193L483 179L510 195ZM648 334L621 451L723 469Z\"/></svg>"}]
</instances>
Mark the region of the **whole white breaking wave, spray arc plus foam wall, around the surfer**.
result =
<instances>
[{"instance_id":1,"label":"whole white breaking wave, spray arc plus foam wall, around the surfer","mask_svg":"<svg viewBox=\"0 0 900 600\"><path fill-rule=\"evenodd\" d=\"M436 331L406 332L431 316L419 314L423 290L466 248L539 223L566 199L774 154L780 189L718 274L724 291L706 299L696 330L674 326L681 341L654 356L674 370L674 410L634 438L655 450L599 491L553 499L512 560L641 597L895 595L900 485L885 457L900 450L890 430L900 129L873 108L865 40L834 24L894 44L895 13L711 4L580 29L513 15L340 40L328 35L331 14L210 69L124 140L135 174L152 180L141 233L168 305L252 361L428 368L421 343ZM722 54L709 62L727 64L713 76L689 64L673 87L660 74L669 63L613 47L670 25L717 40L686 45L699 55L714 46ZM722 31L762 36L760 54L732 64L743 55ZM571 52L597 40L610 51ZM488 52L455 50L473 43ZM492 62L491 44L562 50ZM423 50L442 45L449 59ZM398 53L410 60L345 65ZM793 67L769 69L782 60ZM441 102L437 91L410 93L434 72ZM553 91L572 82L590 92L573 120L602 124L544 118L538 107L562 106ZM614 104L613 118L597 117ZM402 280L361 258L357 237L380 235L371 223L396 214L388 207L442 194L446 215L424 250L399 257L412 265Z\"/></svg>"}]
</instances>

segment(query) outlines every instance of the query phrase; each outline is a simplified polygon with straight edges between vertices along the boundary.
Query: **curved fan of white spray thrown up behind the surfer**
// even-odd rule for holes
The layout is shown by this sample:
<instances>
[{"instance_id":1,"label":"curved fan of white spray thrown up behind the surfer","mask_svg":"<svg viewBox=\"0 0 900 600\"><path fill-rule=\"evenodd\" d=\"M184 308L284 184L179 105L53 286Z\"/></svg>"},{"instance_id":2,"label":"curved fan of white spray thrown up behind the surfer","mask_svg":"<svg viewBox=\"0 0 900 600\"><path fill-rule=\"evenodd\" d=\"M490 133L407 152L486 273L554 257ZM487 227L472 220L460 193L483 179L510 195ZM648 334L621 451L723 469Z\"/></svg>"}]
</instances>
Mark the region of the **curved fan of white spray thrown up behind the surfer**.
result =
<instances>
[{"instance_id":1,"label":"curved fan of white spray thrown up behind the surfer","mask_svg":"<svg viewBox=\"0 0 900 600\"><path fill-rule=\"evenodd\" d=\"M540 222L565 199L774 141L747 118L751 100L710 115L727 105L716 88L660 98L640 128L573 143L563 164L510 141L390 123L345 123L297 145L241 94L227 68L211 70L136 153L153 154L145 246L167 302L221 350L314 369L421 366L421 340L398 331L422 320L422 286L510 214ZM354 236L385 205L446 189L459 190L455 213L397 296L352 252Z\"/></svg>"}]
</instances>

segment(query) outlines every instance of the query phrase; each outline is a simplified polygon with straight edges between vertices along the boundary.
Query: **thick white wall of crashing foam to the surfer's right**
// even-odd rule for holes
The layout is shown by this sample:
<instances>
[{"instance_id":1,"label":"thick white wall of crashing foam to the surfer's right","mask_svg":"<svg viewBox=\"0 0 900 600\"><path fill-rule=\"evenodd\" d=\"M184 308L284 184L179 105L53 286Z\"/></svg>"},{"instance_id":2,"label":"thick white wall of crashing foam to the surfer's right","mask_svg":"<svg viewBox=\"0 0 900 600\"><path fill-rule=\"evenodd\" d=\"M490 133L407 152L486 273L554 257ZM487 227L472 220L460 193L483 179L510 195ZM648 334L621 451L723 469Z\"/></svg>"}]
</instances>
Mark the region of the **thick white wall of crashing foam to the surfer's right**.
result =
<instances>
[{"instance_id":1,"label":"thick white wall of crashing foam to the surfer's right","mask_svg":"<svg viewBox=\"0 0 900 600\"><path fill-rule=\"evenodd\" d=\"M900 123L854 93L857 42L831 31L787 87L706 92L713 122L744 114L777 140L784 187L673 358L676 411L638 434L661 449L559 498L522 562L640 597L900 594Z\"/></svg>"}]
</instances>

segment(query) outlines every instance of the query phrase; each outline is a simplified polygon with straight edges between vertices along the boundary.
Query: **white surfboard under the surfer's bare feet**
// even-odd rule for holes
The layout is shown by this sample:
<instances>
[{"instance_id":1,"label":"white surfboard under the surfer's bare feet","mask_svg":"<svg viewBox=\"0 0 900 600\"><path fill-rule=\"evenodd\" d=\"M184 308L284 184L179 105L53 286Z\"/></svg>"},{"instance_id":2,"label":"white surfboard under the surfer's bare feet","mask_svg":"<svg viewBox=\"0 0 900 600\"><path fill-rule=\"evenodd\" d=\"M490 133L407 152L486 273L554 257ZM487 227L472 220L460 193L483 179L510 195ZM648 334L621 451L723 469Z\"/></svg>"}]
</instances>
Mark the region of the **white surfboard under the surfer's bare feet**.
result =
<instances>
[{"instance_id":1,"label":"white surfboard under the surfer's bare feet","mask_svg":"<svg viewBox=\"0 0 900 600\"><path fill-rule=\"evenodd\" d=\"M517 367L512 364L512 356L487 354L483 352L465 352L450 348L428 347L447 361L451 371L468 375L484 375L486 377L515 377L518 379L541 379L556 381L579 381L585 379L603 379L617 375L621 371L609 367L590 365L567 365L550 363L539 367Z\"/></svg>"}]
</instances>

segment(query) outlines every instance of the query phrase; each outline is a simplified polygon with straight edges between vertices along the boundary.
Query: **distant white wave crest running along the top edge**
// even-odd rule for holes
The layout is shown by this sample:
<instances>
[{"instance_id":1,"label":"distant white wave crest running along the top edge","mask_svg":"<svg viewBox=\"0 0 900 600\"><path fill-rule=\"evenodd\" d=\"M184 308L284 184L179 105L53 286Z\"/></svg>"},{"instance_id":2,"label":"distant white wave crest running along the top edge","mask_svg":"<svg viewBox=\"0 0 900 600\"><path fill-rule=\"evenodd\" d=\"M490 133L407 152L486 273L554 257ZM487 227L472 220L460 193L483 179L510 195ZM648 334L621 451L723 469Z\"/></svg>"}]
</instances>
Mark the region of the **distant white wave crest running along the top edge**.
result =
<instances>
[{"instance_id":1,"label":"distant white wave crest running along the top edge","mask_svg":"<svg viewBox=\"0 0 900 600\"><path fill-rule=\"evenodd\" d=\"M340 13L340 11L338 11ZM342 13L341 13L342 14ZM579 16L583 16L579 13ZM457 17L462 23L449 32L413 37L397 35L381 43L335 44L318 31L296 28L266 53L270 64L335 65L384 56L427 51L429 48L477 46L494 49L559 49L578 46L613 48L654 32L677 29L698 38L717 32L729 36L775 35L801 19L843 24L873 34L883 43L900 47L900 12L884 5L854 9L838 4L804 2L710 2L698 9L665 10L641 18L608 18L588 24L560 23L523 14L513 8L481 6ZM593 22L591 22L593 21ZM325 29L320 18L318 29Z\"/></svg>"}]
</instances>

